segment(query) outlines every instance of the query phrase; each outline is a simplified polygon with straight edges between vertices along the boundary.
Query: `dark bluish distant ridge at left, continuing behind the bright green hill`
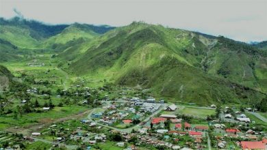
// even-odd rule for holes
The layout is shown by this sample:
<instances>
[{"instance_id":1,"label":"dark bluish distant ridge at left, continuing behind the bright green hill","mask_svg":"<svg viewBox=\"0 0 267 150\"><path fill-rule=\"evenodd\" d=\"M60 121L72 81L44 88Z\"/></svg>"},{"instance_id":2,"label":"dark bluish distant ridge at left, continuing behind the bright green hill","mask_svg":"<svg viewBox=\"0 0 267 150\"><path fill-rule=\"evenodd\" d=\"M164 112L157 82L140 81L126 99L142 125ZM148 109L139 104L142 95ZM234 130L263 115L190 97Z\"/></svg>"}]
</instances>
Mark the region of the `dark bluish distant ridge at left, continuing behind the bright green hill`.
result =
<instances>
[{"instance_id":1,"label":"dark bluish distant ridge at left, continuing behind the bright green hill","mask_svg":"<svg viewBox=\"0 0 267 150\"><path fill-rule=\"evenodd\" d=\"M21 48L38 48L40 43L48 40L50 37L66 31L68 27L77 27L82 31L90 29L94 33L105 33L114 27L107 25L47 25L36 20L26 20L19 17L6 20L0 18L0 39L6 40ZM77 33L79 35L79 33ZM72 37L69 37L72 38Z\"/></svg>"}]
</instances>

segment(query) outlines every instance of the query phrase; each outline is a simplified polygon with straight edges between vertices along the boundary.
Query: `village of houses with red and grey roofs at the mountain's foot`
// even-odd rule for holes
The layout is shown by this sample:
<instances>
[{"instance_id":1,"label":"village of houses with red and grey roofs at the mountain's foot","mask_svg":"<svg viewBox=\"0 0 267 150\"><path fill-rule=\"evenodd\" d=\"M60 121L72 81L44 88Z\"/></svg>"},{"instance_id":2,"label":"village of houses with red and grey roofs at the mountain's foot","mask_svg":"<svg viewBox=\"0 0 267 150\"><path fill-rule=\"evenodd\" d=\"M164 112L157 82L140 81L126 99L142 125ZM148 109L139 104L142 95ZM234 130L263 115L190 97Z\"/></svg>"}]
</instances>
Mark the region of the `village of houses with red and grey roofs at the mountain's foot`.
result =
<instances>
[{"instance_id":1,"label":"village of houses with red and grey roofs at the mountain's foot","mask_svg":"<svg viewBox=\"0 0 267 150\"><path fill-rule=\"evenodd\" d=\"M82 89L79 85L75 88ZM33 88L26 92L36 95L39 91ZM95 94L96 89L84 87L80 91L59 91L55 98L68 95L92 97ZM49 93L43 93L43 96L47 95ZM22 105L26 103L26 100L21 101ZM40 125L26 134L3 131L0 133L2 147L23 149L20 143L25 142L43 143L41 145L46 149L88 150L267 147L266 126L258 127L255 119L247 116L255 111L252 108L175 104L152 96L127 97L125 93L120 93L117 98L106 94L98 102L80 99L75 103L93 107L82 117ZM53 111L53 104L44 104L40 110ZM194 111L195 114L191 114ZM205 113L201 115L202 112Z\"/></svg>"}]
</instances>

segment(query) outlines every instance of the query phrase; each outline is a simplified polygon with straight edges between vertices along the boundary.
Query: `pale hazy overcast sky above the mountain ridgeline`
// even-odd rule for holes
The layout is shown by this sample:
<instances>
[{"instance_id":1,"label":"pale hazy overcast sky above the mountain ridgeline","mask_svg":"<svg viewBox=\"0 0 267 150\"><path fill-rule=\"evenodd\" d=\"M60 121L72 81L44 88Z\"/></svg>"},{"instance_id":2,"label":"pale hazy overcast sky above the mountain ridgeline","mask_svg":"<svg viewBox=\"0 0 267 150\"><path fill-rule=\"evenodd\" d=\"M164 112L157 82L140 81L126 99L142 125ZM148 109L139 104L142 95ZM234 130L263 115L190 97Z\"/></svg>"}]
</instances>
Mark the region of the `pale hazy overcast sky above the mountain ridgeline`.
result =
<instances>
[{"instance_id":1,"label":"pale hazy overcast sky above the mountain ridgeline","mask_svg":"<svg viewBox=\"0 0 267 150\"><path fill-rule=\"evenodd\" d=\"M50 24L118 27L142 20L243 42L267 40L267 0L0 0L1 17L20 13Z\"/></svg>"}]
</instances>

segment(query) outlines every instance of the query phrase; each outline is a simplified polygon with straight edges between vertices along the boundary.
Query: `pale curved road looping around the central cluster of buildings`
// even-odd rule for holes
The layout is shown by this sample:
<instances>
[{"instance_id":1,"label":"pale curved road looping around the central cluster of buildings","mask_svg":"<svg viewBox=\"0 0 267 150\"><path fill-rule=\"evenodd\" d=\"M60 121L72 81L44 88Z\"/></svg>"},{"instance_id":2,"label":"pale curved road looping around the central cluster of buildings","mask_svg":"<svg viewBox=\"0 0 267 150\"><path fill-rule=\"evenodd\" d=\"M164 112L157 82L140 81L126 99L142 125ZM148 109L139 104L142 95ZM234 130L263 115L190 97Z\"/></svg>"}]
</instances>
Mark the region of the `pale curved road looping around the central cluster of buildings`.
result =
<instances>
[{"instance_id":1,"label":"pale curved road looping around the central cluster of buildings","mask_svg":"<svg viewBox=\"0 0 267 150\"><path fill-rule=\"evenodd\" d=\"M166 108L166 106L167 106L167 104L163 104L162 106L160 106L160 108L159 108L157 111L153 112L152 115L150 115L149 117L147 117L146 119L144 119L144 121L141 121L141 122L138 123L137 125L134 125L134 126L132 126L132 127L129 127L129 128L127 128L127 129L119 129L119 128L117 128L117 127L111 127L110 125L103 125L102 123L99 123L98 121L94 121L94 122L97 123L97 125L101 125L101 126L103 126L103 127L107 127L107 128L113 129L113 130L120 131L120 132L127 132L127 133L130 133L131 130L138 130L138 129L141 127L141 123L142 123L142 122L147 122L147 121L149 121L149 119L151 119L151 117L154 117L155 115L157 115L157 113L159 113L161 110L163 110L164 108ZM97 108L94 108L94 109L89 113L89 115L88 115L88 119L89 119L90 121L93 121L91 116L92 116L92 113L94 112L94 110L96 110L96 109L97 109Z\"/></svg>"}]
</instances>

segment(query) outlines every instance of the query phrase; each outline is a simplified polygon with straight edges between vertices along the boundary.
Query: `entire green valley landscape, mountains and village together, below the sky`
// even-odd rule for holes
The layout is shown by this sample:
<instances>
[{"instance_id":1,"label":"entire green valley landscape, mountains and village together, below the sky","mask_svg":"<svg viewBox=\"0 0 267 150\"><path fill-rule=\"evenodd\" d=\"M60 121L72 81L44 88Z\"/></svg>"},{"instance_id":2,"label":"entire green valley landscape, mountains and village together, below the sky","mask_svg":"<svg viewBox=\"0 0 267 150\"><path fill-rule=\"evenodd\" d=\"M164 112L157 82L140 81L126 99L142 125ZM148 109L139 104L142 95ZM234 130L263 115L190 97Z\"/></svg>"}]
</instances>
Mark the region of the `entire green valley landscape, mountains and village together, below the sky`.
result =
<instances>
[{"instance_id":1,"label":"entire green valley landscape, mountains and village together, below the sky","mask_svg":"<svg viewBox=\"0 0 267 150\"><path fill-rule=\"evenodd\" d=\"M0 25L0 149L266 143L264 42L142 22Z\"/></svg>"}]
</instances>

